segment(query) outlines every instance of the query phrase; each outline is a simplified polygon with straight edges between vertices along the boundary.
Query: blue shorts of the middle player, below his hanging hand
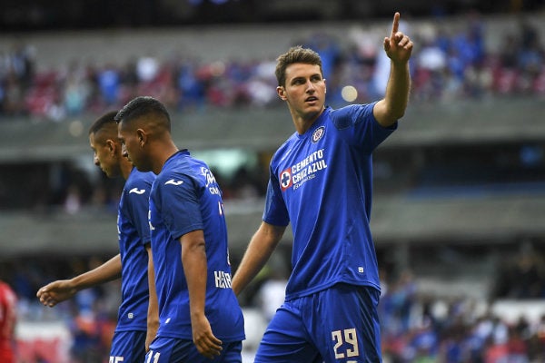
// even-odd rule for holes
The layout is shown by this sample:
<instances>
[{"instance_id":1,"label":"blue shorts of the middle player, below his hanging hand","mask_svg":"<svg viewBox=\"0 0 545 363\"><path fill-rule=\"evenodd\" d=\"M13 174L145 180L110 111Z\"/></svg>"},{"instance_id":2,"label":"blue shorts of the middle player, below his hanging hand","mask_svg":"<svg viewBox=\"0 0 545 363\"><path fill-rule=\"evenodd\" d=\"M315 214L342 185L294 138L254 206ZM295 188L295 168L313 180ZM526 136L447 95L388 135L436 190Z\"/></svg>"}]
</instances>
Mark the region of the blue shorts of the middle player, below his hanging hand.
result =
<instances>
[{"instance_id":1,"label":"blue shorts of the middle player, below his hanging hand","mask_svg":"<svg viewBox=\"0 0 545 363\"><path fill-rule=\"evenodd\" d=\"M223 342L222 354L216 358L204 357L193 340L154 338L145 355L145 363L242 363L242 341Z\"/></svg>"}]
</instances>

